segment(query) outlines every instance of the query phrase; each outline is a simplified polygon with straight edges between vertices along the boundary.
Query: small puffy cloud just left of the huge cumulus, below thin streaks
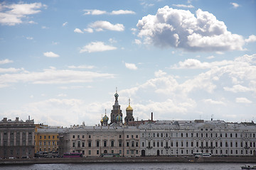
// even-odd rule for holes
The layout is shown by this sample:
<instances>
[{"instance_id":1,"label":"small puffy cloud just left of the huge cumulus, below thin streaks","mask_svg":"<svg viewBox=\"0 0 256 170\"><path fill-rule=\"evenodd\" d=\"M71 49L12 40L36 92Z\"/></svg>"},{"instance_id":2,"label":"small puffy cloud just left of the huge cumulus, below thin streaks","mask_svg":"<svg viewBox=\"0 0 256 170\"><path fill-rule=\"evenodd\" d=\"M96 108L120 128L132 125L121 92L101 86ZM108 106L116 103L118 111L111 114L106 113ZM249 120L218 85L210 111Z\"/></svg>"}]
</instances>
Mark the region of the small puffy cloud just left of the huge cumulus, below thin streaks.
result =
<instances>
[{"instance_id":1,"label":"small puffy cloud just left of the huge cumulus, below thin streaks","mask_svg":"<svg viewBox=\"0 0 256 170\"><path fill-rule=\"evenodd\" d=\"M120 23L112 24L108 21L95 21L94 23L90 24L90 28L95 28L97 31L102 31L102 30L123 31L124 25Z\"/></svg>"}]
</instances>

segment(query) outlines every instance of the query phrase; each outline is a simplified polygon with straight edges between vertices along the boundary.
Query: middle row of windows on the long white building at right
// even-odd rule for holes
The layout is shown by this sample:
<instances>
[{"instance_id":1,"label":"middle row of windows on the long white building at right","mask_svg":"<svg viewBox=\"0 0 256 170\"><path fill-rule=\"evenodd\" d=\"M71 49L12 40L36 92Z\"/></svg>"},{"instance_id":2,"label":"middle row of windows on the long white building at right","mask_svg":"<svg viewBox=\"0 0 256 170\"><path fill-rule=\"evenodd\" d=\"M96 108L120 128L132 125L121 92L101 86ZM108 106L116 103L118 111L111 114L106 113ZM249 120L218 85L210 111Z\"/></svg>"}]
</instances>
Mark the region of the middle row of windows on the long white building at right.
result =
<instances>
[{"instance_id":1,"label":"middle row of windows on the long white building at right","mask_svg":"<svg viewBox=\"0 0 256 170\"><path fill-rule=\"evenodd\" d=\"M176 142L176 147L185 147L185 143L180 142L180 145L178 145L179 142ZM153 147L169 147L169 142L166 142L164 146L164 142L153 142ZM203 142L201 142L200 147L218 147L218 142L215 142L215 145L213 145L213 142L206 142L205 145L203 145ZM220 142L219 147L238 147L239 142ZM142 142L142 147L145 147L145 143ZM151 147L151 142L148 142L147 147ZM174 142L171 142L171 147L174 147ZM186 142L186 147L194 147L193 142L191 142L191 145L189 146L189 143ZM199 147L199 142L196 142L196 146ZM240 147L256 147L256 142L240 142Z\"/></svg>"}]
</instances>

